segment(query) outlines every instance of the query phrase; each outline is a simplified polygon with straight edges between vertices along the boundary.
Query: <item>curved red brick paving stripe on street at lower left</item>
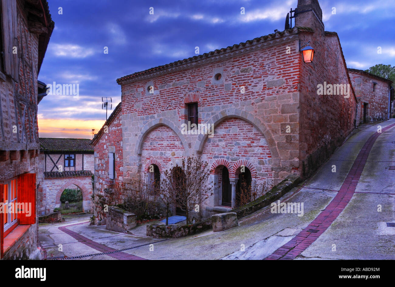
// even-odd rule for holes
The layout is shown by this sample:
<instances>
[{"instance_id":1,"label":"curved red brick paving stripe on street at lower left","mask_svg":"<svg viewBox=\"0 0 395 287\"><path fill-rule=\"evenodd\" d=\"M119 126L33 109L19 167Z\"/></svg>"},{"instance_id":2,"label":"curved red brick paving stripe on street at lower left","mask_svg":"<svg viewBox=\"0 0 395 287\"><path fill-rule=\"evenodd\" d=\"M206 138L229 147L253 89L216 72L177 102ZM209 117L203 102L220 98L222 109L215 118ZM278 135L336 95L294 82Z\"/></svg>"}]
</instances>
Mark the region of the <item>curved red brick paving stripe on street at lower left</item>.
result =
<instances>
[{"instance_id":1,"label":"curved red brick paving stripe on street at lower left","mask_svg":"<svg viewBox=\"0 0 395 287\"><path fill-rule=\"evenodd\" d=\"M117 249L114 249L114 248L105 246L103 244L94 242L93 240L90 240L89 238L87 238L87 237L85 237L85 236L83 236L83 235L81 235L79 233L76 233L76 232L71 231L70 229L66 228L66 227L69 227L69 226L80 225L80 224L84 224L84 223L88 223L88 222L89 221L82 222L82 223L76 223L76 224L70 224L70 225L66 225L66 226L61 226L61 227L58 227L58 229L60 231L64 232L64 233L70 235L74 239L77 239L78 242L81 242L82 244L85 244L85 245L87 245L87 246L89 246L89 247L91 247L93 249L96 249L96 250L98 250L100 252L105 253L105 252L117 251ZM144 259L142 257L138 257L138 256L135 256L135 255L132 255L132 254L128 254L128 253L125 253L125 252L116 252L116 253L113 253L113 254L106 254L106 255L107 256L111 256L111 257L113 257L115 259L119 259L119 260L147 260L147 259Z\"/></svg>"}]
</instances>

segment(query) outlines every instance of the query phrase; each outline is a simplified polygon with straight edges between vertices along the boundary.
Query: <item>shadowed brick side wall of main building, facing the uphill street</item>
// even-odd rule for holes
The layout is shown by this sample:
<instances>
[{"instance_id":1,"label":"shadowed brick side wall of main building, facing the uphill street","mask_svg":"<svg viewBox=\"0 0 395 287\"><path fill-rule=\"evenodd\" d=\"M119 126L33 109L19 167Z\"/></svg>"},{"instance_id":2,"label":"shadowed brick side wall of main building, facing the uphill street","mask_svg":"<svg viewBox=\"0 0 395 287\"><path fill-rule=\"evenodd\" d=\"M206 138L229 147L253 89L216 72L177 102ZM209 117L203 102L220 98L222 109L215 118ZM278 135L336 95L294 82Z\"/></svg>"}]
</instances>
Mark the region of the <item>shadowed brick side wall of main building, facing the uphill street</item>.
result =
<instances>
[{"instance_id":1,"label":"shadowed brick side wall of main building, facing the uphill street","mask_svg":"<svg viewBox=\"0 0 395 287\"><path fill-rule=\"evenodd\" d=\"M298 6L302 4L309 9L297 15L295 25L309 28L299 35L301 45L310 41L308 45L316 51L312 63L304 63L299 53L299 106L294 107L295 112L299 111L299 170L305 178L324 163L354 129L357 102L339 37L334 32L325 32L324 24L314 15L322 18L316 0L299 0ZM314 11L307 11L310 9ZM341 95L320 94L320 84L345 84L349 95L344 92Z\"/></svg>"}]
</instances>

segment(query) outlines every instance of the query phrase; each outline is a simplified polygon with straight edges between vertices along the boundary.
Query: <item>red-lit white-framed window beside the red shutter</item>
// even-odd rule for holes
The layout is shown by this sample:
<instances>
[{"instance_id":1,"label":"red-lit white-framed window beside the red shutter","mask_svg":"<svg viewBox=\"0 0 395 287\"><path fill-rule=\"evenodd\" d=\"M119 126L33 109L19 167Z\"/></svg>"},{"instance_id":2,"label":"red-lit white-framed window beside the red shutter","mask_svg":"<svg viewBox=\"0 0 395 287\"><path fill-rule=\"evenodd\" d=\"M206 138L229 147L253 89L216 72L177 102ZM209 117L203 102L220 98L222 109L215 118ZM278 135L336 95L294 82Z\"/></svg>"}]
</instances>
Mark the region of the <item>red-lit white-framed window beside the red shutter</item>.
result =
<instances>
[{"instance_id":1,"label":"red-lit white-framed window beside the red shutter","mask_svg":"<svg viewBox=\"0 0 395 287\"><path fill-rule=\"evenodd\" d=\"M3 183L4 193L4 231L18 223L18 183L17 178L13 178Z\"/></svg>"}]
</instances>

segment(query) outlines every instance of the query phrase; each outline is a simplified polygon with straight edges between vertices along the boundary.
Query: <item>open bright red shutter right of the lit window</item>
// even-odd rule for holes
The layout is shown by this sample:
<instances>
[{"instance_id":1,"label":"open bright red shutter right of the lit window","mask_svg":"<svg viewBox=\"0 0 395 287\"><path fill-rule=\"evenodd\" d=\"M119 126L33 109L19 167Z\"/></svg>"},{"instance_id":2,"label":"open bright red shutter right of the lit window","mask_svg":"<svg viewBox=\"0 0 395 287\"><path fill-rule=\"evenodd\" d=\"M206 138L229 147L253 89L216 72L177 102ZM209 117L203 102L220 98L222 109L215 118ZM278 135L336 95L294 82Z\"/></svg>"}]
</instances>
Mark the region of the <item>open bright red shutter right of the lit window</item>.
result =
<instances>
[{"instance_id":1,"label":"open bright red shutter right of the lit window","mask_svg":"<svg viewBox=\"0 0 395 287\"><path fill-rule=\"evenodd\" d=\"M19 213L19 224L36 223L36 174L23 173L19 175L18 202L31 203L31 214ZM30 213L30 212L29 212Z\"/></svg>"}]
</instances>

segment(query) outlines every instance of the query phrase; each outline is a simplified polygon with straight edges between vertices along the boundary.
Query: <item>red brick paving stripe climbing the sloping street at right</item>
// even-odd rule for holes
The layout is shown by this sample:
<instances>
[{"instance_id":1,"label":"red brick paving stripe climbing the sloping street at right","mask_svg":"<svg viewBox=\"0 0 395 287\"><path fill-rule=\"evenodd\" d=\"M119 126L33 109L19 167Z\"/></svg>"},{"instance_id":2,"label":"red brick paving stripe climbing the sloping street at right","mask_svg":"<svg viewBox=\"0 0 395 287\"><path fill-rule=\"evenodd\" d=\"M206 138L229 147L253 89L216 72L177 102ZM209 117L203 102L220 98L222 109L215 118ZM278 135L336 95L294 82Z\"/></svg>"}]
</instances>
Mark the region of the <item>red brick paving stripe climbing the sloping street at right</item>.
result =
<instances>
[{"instance_id":1,"label":"red brick paving stripe climbing the sloping street at right","mask_svg":"<svg viewBox=\"0 0 395 287\"><path fill-rule=\"evenodd\" d=\"M395 124L391 124L382 129L382 133ZM292 260L305 251L324 231L332 224L350 202L363 168L371 152L372 146L381 133L374 133L363 145L357 158L354 161L346 179L344 180L339 192L328 204L328 206L299 234L289 242L278 248L273 254L264 260ZM316 233L308 232L309 229L318 229Z\"/></svg>"}]
</instances>

